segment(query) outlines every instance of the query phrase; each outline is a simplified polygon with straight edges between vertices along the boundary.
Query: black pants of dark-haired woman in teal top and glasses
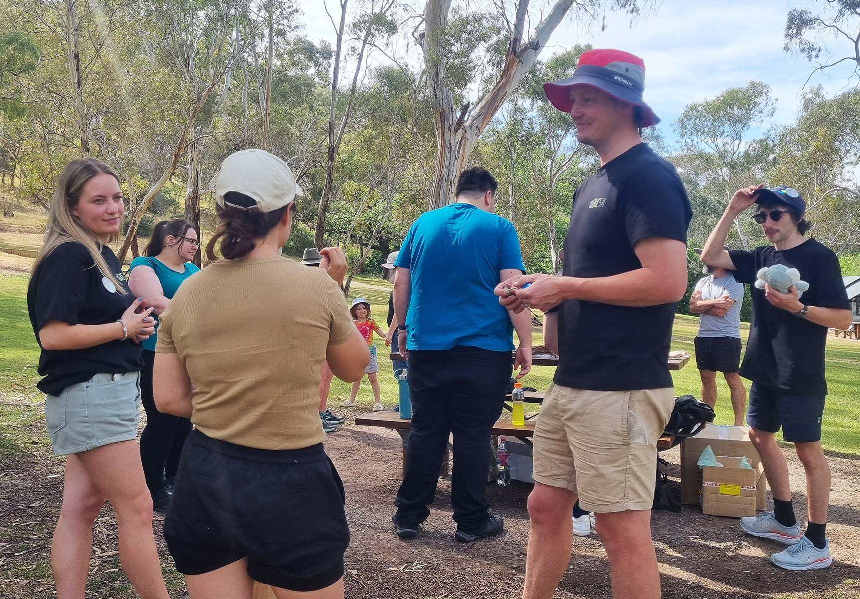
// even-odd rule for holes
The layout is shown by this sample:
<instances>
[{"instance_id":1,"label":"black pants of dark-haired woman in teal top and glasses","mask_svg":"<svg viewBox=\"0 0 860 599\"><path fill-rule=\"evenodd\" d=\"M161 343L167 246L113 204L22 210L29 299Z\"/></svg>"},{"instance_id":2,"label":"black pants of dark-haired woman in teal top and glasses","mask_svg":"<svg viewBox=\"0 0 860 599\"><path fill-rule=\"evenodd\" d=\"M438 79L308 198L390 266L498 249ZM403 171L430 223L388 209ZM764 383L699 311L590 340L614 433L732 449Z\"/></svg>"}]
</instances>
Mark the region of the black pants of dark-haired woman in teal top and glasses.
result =
<instances>
[{"instance_id":1,"label":"black pants of dark-haired woman in teal top and glasses","mask_svg":"<svg viewBox=\"0 0 860 599\"><path fill-rule=\"evenodd\" d=\"M163 414L152 398L152 366L156 353L144 350L144 369L140 373L140 401L146 412L146 426L140 434L140 461L150 493L164 486L164 477L176 475L182 445L191 432L191 421Z\"/></svg>"}]
</instances>

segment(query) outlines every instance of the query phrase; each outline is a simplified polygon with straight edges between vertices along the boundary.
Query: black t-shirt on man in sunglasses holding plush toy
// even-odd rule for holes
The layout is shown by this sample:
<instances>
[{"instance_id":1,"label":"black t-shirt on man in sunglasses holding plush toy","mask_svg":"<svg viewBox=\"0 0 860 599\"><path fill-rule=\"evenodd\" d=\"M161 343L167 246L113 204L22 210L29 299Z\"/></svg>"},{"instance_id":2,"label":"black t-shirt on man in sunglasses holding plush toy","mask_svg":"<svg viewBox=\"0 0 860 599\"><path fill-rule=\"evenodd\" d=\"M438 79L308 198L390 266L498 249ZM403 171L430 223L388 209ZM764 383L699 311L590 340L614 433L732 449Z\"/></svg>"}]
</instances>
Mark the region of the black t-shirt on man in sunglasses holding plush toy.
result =
<instances>
[{"instance_id":1,"label":"black t-shirt on man in sunglasses holding plush toy","mask_svg":"<svg viewBox=\"0 0 860 599\"><path fill-rule=\"evenodd\" d=\"M814 239L790 250L763 245L753 251L729 250L728 254L735 266L734 279L751 283L753 298L753 321L740 376L795 395L826 395L826 327L771 306L765 299L765 290L752 283L759 269L785 264L798 269L801 281L809 283L801 295L803 304L848 310L848 295L836 255Z\"/></svg>"}]
</instances>

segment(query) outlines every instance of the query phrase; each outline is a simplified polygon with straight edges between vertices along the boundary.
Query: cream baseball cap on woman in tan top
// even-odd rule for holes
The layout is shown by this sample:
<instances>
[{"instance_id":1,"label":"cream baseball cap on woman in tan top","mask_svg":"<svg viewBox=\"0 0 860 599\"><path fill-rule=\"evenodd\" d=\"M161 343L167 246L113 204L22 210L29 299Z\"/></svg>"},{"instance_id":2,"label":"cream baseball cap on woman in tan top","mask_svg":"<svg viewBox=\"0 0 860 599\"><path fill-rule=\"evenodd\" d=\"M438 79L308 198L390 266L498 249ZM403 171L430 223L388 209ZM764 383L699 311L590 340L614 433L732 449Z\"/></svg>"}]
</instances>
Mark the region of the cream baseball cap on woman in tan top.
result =
<instances>
[{"instance_id":1,"label":"cream baseball cap on woman in tan top","mask_svg":"<svg viewBox=\"0 0 860 599\"><path fill-rule=\"evenodd\" d=\"M253 203L231 201L230 192L247 195ZM228 197L224 199L224 196ZM215 180L218 206L272 212L304 195L287 164L265 150L240 150L224 158ZM241 197L241 196L240 196Z\"/></svg>"}]
</instances>

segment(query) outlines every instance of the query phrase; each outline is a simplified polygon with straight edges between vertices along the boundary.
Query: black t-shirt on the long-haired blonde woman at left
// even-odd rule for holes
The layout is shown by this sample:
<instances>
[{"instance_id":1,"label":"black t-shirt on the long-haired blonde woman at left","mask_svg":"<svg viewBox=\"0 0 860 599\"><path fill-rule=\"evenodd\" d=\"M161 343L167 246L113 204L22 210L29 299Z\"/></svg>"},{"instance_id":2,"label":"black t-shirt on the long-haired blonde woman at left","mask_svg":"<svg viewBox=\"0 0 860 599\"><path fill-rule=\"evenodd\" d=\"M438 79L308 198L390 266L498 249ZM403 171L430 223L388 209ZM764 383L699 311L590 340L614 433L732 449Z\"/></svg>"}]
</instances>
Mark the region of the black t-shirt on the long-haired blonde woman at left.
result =
<instances>
[{"instance_id":1,"label":"black t-shirt on the long-haired blonde woman at left","mask_svg":"<svg viewBox=\"0 0 860 599\"><path fill-rule=\"evenodd\" d=\"M45 256L35 270L27 291L30 323L39 341L39 331L49 320L69 324L107 324L116 322L132 305L120 261L114 252L101 246L101 256L114 272L114 279L101 275L89 250L76 241L59 244ZM117 334L120 326L117 325ZM42 349L39 359L39 389L48 395L59 395L64 388L93 378L94 374L130 373L144 367L139 344L132 342L134 331L126 341L111 341L86 349ZM41 347L41 342L39 343Z\"/></svg>"}]
</instances>

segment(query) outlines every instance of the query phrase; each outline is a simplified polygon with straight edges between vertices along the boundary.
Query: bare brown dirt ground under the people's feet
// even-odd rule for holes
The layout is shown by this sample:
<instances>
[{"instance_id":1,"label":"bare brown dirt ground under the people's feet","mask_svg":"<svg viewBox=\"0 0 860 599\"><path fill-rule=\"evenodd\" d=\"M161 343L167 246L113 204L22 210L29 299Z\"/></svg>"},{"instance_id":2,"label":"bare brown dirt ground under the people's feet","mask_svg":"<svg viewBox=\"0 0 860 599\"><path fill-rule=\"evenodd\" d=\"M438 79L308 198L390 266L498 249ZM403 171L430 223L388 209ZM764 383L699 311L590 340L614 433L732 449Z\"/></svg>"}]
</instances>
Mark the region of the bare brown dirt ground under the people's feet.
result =
<instances>
[{"instance_id":1,"label":"bare brown dirt ground under the people's feet","mask_svg":"<svg viewBox=\"0 0 860 599\"><path fill-rule=\"evenodd\" d=\"M454 540L450 481L439 491L423 532L414 540L393 534L390 516L401 472L401 442L393 431L357 427L355 412L328 436L326 448L347 487L347 516L352 543L347 551L347 597L373 599L519 597L525 570L528 515L525 501L531 485L488 485L492 509L504 516L499 537L461 544ZM62 491L61 462L34 425L34 446L0 472L0 596L43 599L56 596L50 572L49 547ZM792 452L792 486L802 489L803 476ZM672 464L669 494L680 499L679 450L664 457ZM831 456L832 507L828 534L833 565L826 570L789 572L770 565L778 551L771 541L742 534L734 518L703 516L685 506L680 514L655 511L654 546L667 599L751 599L792 597L856 599L860 596L860 458ZM805 495L795 493L798 514L805 513ZM165 574L186 597L163 544L161 520L156 536ZM116 554L116 521L106 507L96 524L88 597L132 597ZM556 597L610 597L609 566L596 536L574 537L573 556Z\"/></svg>"}]
</instances>

